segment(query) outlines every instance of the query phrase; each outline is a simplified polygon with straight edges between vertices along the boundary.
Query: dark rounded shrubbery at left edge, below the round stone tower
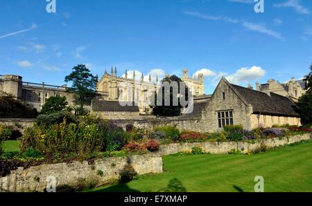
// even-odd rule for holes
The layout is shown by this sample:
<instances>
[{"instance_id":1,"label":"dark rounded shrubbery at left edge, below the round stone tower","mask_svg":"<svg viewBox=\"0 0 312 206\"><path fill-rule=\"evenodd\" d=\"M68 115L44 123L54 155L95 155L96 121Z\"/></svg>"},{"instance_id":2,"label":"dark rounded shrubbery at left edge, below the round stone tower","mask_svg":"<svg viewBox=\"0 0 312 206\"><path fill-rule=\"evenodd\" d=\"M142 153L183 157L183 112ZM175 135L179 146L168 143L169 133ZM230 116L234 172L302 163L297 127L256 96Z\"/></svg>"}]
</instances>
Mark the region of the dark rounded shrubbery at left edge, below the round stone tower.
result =
<instances>
[{"instance_id":1,"label":"dark rounded shrubbery at left edge, below the round stone tower","mask_svg":"<svg viewBox=\"0 0 312 206\"><path fill-rule=\"evenodd\" d=\"M0 118L37 118L37 109L22 104L12 95L4 93L0 96Z\"/></svg>"}]
</instances>

